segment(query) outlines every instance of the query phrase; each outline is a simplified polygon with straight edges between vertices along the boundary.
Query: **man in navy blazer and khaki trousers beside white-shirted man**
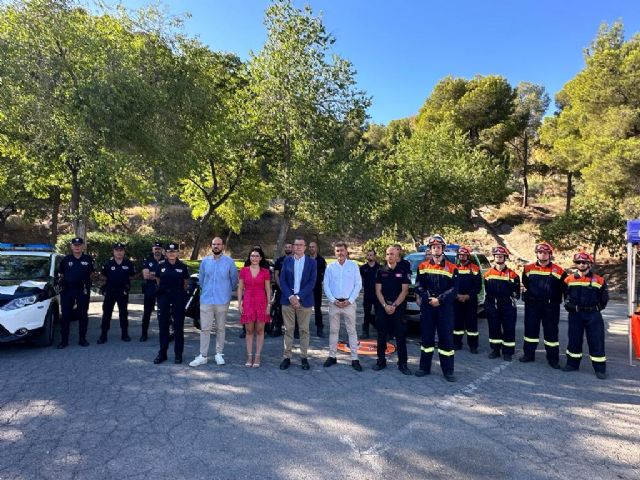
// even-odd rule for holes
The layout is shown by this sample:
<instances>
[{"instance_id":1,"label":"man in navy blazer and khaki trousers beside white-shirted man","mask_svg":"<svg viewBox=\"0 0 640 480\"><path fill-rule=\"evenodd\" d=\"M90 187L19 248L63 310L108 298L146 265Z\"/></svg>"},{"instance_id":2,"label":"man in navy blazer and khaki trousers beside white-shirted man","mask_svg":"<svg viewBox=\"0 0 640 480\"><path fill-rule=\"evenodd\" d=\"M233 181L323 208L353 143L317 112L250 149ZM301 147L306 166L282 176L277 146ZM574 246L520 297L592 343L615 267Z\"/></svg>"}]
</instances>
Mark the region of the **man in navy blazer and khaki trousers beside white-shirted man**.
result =
<instances>
[{"instance_id":1,"label":"man in navy blazer and khaki trousers beside white-shirted man","mask_svg":"<svg viewBox=\"0 0 640 480\"><path fill-rule=\"evenodd\" d=\"M293 348L293 329L298 319L300 331L300 356L302 369L309 370L307 350L309 349L309 319L313 308L313 288L316 284L316 261L305 255L307 242L297 237L293 242L293 255L284 259L280 271L280 289L282 297L282 317L284 319L284 359L280 363L280 370L286 370L291 365L291 350Z\"/></svg>"}]
</instances>

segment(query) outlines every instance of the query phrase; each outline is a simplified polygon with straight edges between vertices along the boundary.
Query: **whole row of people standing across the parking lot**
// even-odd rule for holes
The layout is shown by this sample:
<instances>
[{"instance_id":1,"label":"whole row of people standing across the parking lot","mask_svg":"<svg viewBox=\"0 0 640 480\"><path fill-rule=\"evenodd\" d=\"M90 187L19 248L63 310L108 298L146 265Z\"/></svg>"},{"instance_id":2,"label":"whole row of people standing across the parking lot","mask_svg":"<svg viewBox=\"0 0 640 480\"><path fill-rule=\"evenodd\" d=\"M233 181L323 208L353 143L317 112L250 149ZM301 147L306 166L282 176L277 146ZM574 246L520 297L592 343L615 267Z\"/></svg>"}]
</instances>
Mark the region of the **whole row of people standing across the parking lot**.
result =
<instances>
[{"instance_id":1,"label":"whole row of people standing across the parking lot","mask_svg":"<svg viewBox=\"0 0 640 480\"><path fill-rule=\"evenodd\" d=\"M61 277L61 332L58 348L69 341L69 321L73 315L79 320L79 344L88 346L86 339L89 289L95 276L90 256L83 252L81 238L71 241L72 253L62 260ZM385 251L385 263L379 265L373 250L367 252L366 263L358 266L348 258L347 244L334 245L336 261L327 262L318 254L317 243L309 245L311 255L305 253L307 244L298 237L285 246L285 255L274 265L275 296L272 298L272 278L269 263L260 247L251 249L245 266L238 269L235 262L224 254L224 243L219 237L212 240L211 255L205 257L199 269L200 284L200 351L190 362L197 367L208 362L212 330L215 328L214 359L224 365L226 318L232 293L238 298L240 323L246 331L247 367L261 364L265 326L273 321L272 334L284 333L283 359L280 369L291 365L294 338L300 339L300 363L303 370L310 368L308 348L310 319L315 309L316 334L323 337L321 311L322 294L327 298L329 310L329 355L325 367L337 363L338 333L344 321L351 351L351 366L362 371L358 359L358 332L356 330L356 301L364 287L364 321L362 336L368 337L370 327L377 330L377 362L373 370L387 366L388 340L395 338L398 369L411 375L408 368L406 346L406 297L411 283L411 267L402 259L399 245ZM506 265L509 252L505 247L492 249L494 265L484 273L471 261L469 248L458 250L457 262L447 260L446 242L439 235L428 241L428 254L418 266L416 276L416 302L420 305L420 363L417 377L429 375L436 351L440 367L447 381L455 381L454 354L462 348L464 336L469 350L478 353L478 295L484 284L484 308L489 325L490 358L502 357L511 361L515 352L516 301L522 295L525 304L524 354L521 362L535 360L540 326L544 332L547 361L552 368L560 368L558 328L560 305L569 312L569 343L564 371L577 370L582 358L582 340L586 332L589 353L598 378L606 378L604 353L604 323L600 311L608 301L605 280L592 272L593 259L584 252L574 256L576 273L568 273L551 262L553 254L548 243L536 245L537 260L524 267L520 276ZM105 280L103 317L98 343L107 341L114 305L118 305L121 339L129 342L128 295L130 279L135 274L133 263L124 257L125 245L113 245L113 257L100 274ZM178 258L178 245L155 243L152 255L142 263L144 279L144 312L140 341L148 340L150 317L158 306L160 348L154 363L168 359L174 330L174 361L182 363L184 350L185 306L189 295L187 266ZM274 305L275 303L275 305ZM75 308L74 308L75 307ZM275 307L275 308L272 308ZM372 313L372 310L374 313ZM272 318L273 315L273 318ZM283 332L284 330L284 332ZM437 345L436 345L437 333ZM254 349L255 343L255 349Z\"/></svg>"}]
</instances>

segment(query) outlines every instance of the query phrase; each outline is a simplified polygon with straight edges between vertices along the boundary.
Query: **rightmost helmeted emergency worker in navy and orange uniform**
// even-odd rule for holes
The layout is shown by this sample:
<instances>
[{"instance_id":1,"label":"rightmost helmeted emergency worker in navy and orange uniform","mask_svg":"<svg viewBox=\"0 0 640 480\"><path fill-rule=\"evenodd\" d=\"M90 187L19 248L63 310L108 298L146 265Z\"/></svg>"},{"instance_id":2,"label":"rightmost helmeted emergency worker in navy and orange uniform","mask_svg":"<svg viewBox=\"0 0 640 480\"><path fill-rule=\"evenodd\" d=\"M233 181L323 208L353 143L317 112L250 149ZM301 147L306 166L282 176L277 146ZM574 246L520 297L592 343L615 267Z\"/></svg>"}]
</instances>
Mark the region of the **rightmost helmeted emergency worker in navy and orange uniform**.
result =
<instances>
[{"instance_id":1,"label":"rightmost helmeted emergency worker in navy and orange uniform","mask_svg":"<svg viewBox=\"0 0 640 480\"><path fill-rule=\"evenodd\" d=\"M565 278L564 308L569 312L569 344L565 372L580 368L583 336L587 335L591 365L600 380L607 378L607 357L604 353L604 321L602 310L609 302L607 282L591 270L593 257L585 252L573 256L577 272Z\"/></svg>"}]
</instances>

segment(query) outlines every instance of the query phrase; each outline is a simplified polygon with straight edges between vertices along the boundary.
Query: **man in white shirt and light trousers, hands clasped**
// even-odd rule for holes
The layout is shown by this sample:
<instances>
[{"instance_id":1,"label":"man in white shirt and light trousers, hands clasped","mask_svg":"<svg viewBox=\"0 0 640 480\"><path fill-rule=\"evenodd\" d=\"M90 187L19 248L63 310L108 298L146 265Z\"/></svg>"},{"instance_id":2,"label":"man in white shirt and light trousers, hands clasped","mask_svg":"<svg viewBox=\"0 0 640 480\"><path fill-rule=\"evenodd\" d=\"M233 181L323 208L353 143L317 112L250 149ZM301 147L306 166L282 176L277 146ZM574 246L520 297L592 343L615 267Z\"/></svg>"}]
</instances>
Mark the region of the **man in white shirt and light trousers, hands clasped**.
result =
<instances>
[{"instance_id":1,"label":"man in white shirt and light trousers, hands clasped","mask_svg":"<svg viewBox=\"0 0 640 480\"><path fill-rule=\"evenodd\" d=\"M340 317L344 316L344 325L349 335L351 349L351 366L361 372L362 366L358 360L358 334L356 333L356 299L362 288L360 269L358 265L347 258L347 244L335 244L336 261L327 267L324 275L324 294L329 301L329 358L324 362L325 367L338 363L338 333L340 332Z\"/></svg>"}]
</instances>

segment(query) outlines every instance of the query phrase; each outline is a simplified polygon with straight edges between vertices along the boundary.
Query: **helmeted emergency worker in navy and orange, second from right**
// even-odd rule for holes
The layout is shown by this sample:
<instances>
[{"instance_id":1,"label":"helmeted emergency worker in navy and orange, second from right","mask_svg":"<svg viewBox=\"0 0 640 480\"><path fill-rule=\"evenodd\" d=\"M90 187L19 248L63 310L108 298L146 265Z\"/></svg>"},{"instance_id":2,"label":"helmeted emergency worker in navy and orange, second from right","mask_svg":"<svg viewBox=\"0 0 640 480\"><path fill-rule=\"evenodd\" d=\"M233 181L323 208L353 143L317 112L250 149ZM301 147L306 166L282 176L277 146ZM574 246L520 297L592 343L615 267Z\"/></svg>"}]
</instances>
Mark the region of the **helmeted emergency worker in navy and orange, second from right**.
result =
<instances>
[{"instance_id":1,"label":"helmeted emergency worker in navy and orange, second from right","mask_svg":"<svg viewBox=\"0 0 640 480\"><path fill-rule=\"evenodd\" d=\"M560 368L560 303L567 274L551 262L553 249L546 242L536 245L535 263L524 266L522 273L522 299L524 300L524 355L521 362L533 362L540 339L540 324L544 331L544 348L551 368Z\"/></svg>"}]
</instances>

